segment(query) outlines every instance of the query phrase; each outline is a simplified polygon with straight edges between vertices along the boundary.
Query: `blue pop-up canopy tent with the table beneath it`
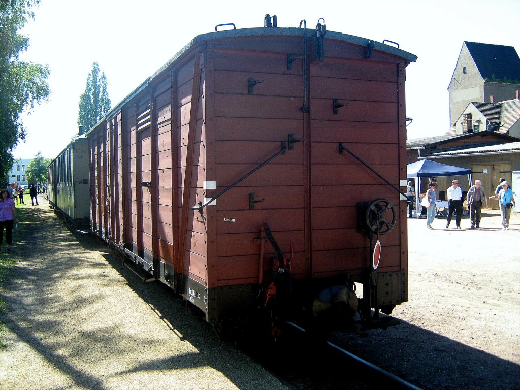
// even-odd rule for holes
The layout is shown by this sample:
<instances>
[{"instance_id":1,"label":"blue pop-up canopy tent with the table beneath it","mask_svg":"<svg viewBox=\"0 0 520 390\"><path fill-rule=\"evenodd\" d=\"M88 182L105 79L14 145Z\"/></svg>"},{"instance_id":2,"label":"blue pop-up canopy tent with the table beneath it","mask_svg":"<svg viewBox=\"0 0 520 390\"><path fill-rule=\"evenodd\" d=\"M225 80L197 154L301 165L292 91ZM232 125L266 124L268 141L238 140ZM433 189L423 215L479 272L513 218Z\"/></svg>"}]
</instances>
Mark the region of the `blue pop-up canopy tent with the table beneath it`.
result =
<instances>
[{"instance_id":1,"label":"blue pop-up canopy tent with the table beneath it","mask_svg":"<svg viewBox=\"0 0 520 390\"><path fill-rule=\"evenodd\" d=\"M420 160L411 164L408 164L406 166L407 171L407 177L411 178L413 177L415 179L415 212L416 218L419 218L421 213L419 212L419 207L422 207L420 205L421 200L419 199L419 193L421 190L421 179L423 177L431 178L431 177L439 177L439 176L458 176L458 175L467 175L467 180L470 185L472 186L472 171L467 168L461 168L460 166L453 166L453 165L447 165L447 164L441 164L436 161L424 159ZM438 191L437 191L438 193ZM445 202L440 203L440 202ZM436 203L437 209L440 207L447 207L448 206L448 200L439 200Z\"/></svg>"}]
</instances>

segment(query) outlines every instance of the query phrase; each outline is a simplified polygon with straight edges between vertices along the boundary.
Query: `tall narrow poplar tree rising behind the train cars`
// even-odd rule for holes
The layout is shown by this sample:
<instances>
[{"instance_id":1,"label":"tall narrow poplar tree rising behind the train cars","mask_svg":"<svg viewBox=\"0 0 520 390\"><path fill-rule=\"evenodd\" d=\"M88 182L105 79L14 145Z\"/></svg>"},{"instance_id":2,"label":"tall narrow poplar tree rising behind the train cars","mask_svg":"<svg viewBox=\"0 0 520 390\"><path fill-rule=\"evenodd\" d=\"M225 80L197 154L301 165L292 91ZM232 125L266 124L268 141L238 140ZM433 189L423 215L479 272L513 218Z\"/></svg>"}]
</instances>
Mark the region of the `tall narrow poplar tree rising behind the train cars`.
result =
<instances>
[{"instance_id":1,"label":"tall narrow poplar tree rising behind the train cars","mask_svg":"<svg viewBox=\"0 0 520 390\"><path fill-rule=\"evenodd\" d=\"M1 1L1 0L0 0ZM77 124L83 126L83 133L93 128L110 111L105 72L99 77L99 65L94 62L88 73L85 92L80 96L80 114ZM81 134L80 134L81 135Z\"/></svg>"}]
</instances>

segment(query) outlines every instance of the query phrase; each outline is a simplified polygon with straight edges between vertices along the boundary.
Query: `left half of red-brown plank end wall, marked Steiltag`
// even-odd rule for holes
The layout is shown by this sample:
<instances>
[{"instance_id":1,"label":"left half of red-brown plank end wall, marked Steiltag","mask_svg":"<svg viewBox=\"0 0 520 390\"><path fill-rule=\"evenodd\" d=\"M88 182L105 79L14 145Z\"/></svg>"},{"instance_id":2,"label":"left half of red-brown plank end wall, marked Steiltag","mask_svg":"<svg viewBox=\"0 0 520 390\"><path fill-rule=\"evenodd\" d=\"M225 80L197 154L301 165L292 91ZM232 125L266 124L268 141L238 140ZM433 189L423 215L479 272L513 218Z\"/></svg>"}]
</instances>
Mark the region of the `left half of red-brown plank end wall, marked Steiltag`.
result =
<instances>
[{"instance_id":1,"label":"left half of red-brown plank end wall, marked Steiltag","mask_svg":"<svg viewBox=\"0 0 520 390\"><path fill-rule=\"evenodd\" d=\"M280 151L281 141L290 133L303 136L302 61L287 69L287 54L302 51L303 40L283 38L268 48L256 39L244 41L245 45L233 42L227 44L229 48L218 45L213 50L216 192ZM259 81L252 93L249 79ZM217 200L218 285L259 282L255 238L264 222L283 252L294 245L292 274L303 274L303 160L303 145L296 144L293 151L280 155ZM264 199L254 210L249 209L249 192ZM265 250L267 258L274 256L270 245Z\"/></svg>"}]
</instances>

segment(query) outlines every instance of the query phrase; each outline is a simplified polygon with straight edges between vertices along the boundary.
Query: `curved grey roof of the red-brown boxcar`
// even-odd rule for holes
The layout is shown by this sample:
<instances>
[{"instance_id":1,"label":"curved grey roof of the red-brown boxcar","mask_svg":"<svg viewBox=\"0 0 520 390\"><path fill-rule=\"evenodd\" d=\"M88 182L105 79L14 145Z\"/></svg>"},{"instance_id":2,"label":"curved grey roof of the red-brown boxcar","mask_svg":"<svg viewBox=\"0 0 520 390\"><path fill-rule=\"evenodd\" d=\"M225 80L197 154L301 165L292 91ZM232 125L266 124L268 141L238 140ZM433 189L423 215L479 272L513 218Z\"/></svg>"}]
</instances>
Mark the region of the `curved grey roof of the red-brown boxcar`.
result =
<instances>
[{"instance_id":1,"label":"curved grey roof of the red-brown boxcar","mask_svg":"<svg viewBox=\"0 0 520 390\"><path fill-rule=\"evenodd\" d=\"M180 56L182 56L186 51L188 51L191 47L204 43L206 41L213 41L223 38L236 38L236 37L247 37L247 36L304 36L304 32L306 32L307 36L314 37L316 34L315 29L302 29L295 27L257 27L257 28L248 28L248 29L233 29L233 30L224 30L224 31L216 31L206 34L200 34L194 37L186 46L180 49L170 60L168 60L161 68L159 68L155 73L153 73L148 79L142 82L134 91L125 97L122 101L118 103L113 109L111 109L104 117L101 119L96 126L100 122L105 121L106 118L112 116L115 112L119 111L129 100L133 99L136 95L138 95L143 89L148 86L148 83L152 81L155 77L159 76L165 69L171 66ZM417 60L417 56L408 53L407 51L401 50L397 47L386 45L384 43L376 42L369 40L367 38L362 38L355 35L348 35L343 33L338 33L334 31L327 31L326 38L329 40L337 40L352 43L359 46L367 46L370 42L374 45L372 48L374 50L382 51L383 53L392 54L398 57L401 57L408 62L415 62ZM85 134L88 135L92 129L90 129Z\"/></svg>"}]
</instances>

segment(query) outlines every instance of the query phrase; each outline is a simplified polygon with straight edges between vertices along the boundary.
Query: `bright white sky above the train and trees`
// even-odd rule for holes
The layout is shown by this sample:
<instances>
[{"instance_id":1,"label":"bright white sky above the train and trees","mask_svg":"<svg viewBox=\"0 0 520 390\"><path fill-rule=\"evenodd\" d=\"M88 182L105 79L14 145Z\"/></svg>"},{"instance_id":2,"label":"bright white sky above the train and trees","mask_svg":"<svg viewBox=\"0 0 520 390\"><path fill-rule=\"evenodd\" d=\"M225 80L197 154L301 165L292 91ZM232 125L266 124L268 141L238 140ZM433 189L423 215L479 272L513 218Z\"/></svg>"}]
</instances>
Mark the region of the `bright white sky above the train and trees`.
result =
<instances>
[{"instance_id":1,"label":"bright white sky above the train and trees","mask_svg":"<svg viewBox=\"0 0 520 390\"><path fill-rule=\"evenodd\" d=\"M448 84L464 41L515 47L520 53L520 0L365 0L262 2L175 0L41 0L22 30L31 45L21 55L50 68L47 102L22 115L27 136L15 158L39 151L53 159L77 134L78 103L93 62L105 72L115 107L193 37L217 24L263 27L266 14L278 27L314 29L397 42L418 56L407 67L408 138L449 129Z\"/></svg>"}]
</instances>

